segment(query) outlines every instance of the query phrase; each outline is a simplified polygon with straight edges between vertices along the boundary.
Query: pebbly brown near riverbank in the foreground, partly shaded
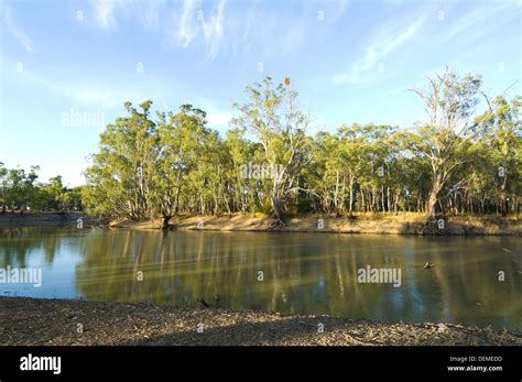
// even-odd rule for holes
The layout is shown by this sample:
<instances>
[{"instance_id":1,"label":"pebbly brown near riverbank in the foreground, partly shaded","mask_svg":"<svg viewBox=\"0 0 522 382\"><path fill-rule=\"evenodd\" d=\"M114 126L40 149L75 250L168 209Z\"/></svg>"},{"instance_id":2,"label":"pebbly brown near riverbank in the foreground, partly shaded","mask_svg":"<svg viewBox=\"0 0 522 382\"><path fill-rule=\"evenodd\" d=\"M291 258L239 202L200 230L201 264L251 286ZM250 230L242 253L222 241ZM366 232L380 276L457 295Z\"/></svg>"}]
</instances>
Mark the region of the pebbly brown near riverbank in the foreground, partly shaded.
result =
<instances>
[{"instance_id":1,"label":"pebbly brown near riverbank in the foreground, partly shaded","mask_svg":"<svg viewBox=\"0 0 522 382\"><path fill-rule=\"evenodd\" d=\"M522 332L210 307L0 297L0 345L522 346Z\"/></svg>"}]
</instances>

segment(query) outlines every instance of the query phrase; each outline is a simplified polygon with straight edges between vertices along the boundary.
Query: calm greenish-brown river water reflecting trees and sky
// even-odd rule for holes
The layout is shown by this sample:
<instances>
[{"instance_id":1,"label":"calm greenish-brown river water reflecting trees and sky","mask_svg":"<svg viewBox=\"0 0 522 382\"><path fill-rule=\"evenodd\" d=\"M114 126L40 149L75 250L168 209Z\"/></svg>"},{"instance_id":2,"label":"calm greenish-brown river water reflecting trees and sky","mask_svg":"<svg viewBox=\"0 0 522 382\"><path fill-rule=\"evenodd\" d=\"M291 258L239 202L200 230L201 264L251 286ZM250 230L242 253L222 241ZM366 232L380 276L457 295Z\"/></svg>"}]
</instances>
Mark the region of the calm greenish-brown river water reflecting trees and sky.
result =
<instances>
[{"instance_id":1,"label":"calm greenish-brown river water reflecting trees and sky","mask_svg":"<svg viewBox=\"0 0 522 382\"><path fill-rule=\"evenodd\" d=\"M233 309L522 329L522 238L0 229L8 265L41 268L42 286L0 284L4 296L204 298ZM368 265L401 269L402 285L358 283Z\"/></svg>"}]
</instances>

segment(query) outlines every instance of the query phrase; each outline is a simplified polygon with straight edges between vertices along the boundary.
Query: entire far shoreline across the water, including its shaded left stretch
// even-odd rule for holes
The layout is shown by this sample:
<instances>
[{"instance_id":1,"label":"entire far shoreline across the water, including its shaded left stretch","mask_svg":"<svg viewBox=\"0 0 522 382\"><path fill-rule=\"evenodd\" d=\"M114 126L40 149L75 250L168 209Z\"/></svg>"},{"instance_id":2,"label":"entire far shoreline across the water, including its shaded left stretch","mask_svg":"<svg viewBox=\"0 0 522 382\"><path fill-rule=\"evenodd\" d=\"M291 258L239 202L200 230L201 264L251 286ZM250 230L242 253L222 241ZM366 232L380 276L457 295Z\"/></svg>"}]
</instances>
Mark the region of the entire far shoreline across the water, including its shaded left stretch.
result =
<instances>
[{"instance_id":1,"label":"entire far shoreline across the water, including its shaded left stretch","mask_svg":"<svg viewBox=\"0 0 522 382\"><path fill-rule=\"evenodd\" d=\"M0 214L1 228L17 227L72 227L80 219L84 227L108 226L116 229L161 228L160 218L154 220L94 219L85 212L25 212ZM326 232L326 233L373 233L373 234L420 234L425 217L422 214L357 214L349 217L303 216L289 218L284 227L271 227L267 216L184 216L171 220L172 230L204 231L273 231L273 232ZM522 225L515 217L450 216L445 218L444 228L434 233L442 236L509 236L522 237Z\"/></svg>"}]
</instances>

